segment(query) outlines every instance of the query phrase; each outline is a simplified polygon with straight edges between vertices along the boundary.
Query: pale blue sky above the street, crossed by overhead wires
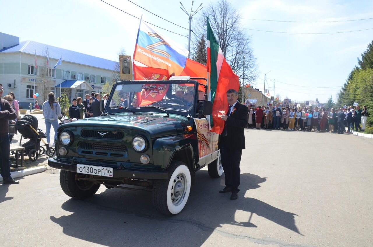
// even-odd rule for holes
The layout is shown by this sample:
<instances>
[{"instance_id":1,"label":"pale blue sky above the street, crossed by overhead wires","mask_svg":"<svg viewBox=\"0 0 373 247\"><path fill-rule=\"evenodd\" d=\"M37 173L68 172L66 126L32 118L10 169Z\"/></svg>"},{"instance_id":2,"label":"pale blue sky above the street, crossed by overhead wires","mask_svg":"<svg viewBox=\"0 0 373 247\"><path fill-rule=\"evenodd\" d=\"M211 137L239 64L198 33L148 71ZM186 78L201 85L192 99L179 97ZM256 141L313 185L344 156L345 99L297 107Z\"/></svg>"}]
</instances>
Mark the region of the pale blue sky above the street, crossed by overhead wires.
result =
<instances>
[{"instance_id":1,"label":"pale blue sky above the street, crossed by overhead wires","mask_svg":"<svg viewBox=\"0 0 373 247\"><path fill-rule=\"evenodd\" d=\"M106 0L108 3L145 21L187 35L188 31L172 25L127 0ZM179 1L132 0L163 18L188 28L188 17L179 8ZM194 1L207 6L215 0ZM341 21L373 17L373 1L285 1L232 0L242 18L283 21ZM191 1L182 1L189 9ZM51 46L79 51L93 56L117 60L117 51L124 47L132 55L139 21L99 0L0 0L0 32L34 40ZM351 22L296 23L241 20L243 28L280 32L339 32L373 28L373 19ZM186 37L160 30L182 46ZM336 100L357 57L372 42L373 30L339 34L282 34L245 30L257 57L258 79L253 83L263 90L264 73L273 96L286 96L292 101L326 102ZM285 84L286 83L286 84ZM288 85L294 84L294 85ZM300 87L303 86L303 87ZM338 86L338 87L337 87ZM320 88L311 88L320 87ZM321 88L334 87L334 88Z\"/></svg>"}]
</instances>

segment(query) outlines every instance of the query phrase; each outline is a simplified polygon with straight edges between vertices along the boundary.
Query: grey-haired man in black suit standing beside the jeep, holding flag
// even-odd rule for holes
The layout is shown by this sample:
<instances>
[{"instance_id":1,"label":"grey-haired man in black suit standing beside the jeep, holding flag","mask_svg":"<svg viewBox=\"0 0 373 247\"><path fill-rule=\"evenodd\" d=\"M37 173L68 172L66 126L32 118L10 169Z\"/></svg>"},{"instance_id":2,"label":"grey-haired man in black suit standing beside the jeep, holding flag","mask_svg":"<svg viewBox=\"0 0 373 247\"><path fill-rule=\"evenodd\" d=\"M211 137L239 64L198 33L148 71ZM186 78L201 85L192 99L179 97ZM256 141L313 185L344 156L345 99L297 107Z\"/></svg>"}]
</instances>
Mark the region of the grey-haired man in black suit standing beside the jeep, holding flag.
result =
<instances>
[{"instance_id":1,"label":"grey-haired man in black suit standing beside the jeep, holding flag","mask_svg":"<svg viewBox=\"0 0 373 247\"><path fill-rule=\"evenodd\" d=\"M227 114L221 116L225 121L224 129L220 135L220 155L225 174L225 188L219 193L232 192L231 200L238 198L238 186L241 170L242 149L245 149L244 128L247 126L248 108L238 103L238 93L234 89L227 91Z\"/></svg>"}]
</instances>

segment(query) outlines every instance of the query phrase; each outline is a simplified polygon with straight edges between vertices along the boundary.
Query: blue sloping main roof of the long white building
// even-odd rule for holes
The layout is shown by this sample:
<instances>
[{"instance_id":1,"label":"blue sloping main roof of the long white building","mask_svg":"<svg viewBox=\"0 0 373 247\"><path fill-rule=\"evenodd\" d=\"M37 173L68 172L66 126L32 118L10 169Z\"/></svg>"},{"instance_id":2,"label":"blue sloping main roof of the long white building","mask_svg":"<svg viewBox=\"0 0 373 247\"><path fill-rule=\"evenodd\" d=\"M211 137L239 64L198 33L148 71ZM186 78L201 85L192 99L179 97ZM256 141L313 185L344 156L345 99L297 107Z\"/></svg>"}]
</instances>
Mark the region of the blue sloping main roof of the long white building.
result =
<instances>
[{"instance_id":1,"label":"blue sloping main roof of the long white building","mask_svg":"<svg viewBox=\"0 0 373 247\"><path fill-rule=\"evenodd\" d=\"M55 47L55 46L49 46L46 44L38 43L32 40L22 41L18 45L7 47L0 52L24 52L29 54L34 54L36 50L37 56L44 56L43 50L48 47L49 57L54 59L60 59L62 56L62 62L73 62L73 63L79 63L83 65L93 66L97 68L103 68L103 69L109 69L114 70L115 64L117 62L103 59L100 57L95 57L87 54L83 54L76 51L70 51L63 48ZM54 65L53 65L54 66Z\"/></svg>"}]
</instances>

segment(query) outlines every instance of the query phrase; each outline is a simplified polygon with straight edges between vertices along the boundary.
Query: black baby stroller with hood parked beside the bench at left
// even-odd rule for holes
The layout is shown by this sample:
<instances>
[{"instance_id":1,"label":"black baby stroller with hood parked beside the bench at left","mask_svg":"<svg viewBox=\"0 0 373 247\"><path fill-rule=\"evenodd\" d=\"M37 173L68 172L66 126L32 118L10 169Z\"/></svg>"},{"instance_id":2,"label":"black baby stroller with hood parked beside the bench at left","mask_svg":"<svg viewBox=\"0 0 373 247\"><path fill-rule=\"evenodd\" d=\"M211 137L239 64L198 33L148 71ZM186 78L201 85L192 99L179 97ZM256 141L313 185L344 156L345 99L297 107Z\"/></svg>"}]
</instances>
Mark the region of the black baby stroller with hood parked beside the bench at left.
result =
<instances>
[{"instance_id":1,"label":"black baby stroller with hood parked beside the bench at left","mask_svg":"<svg viewBox=\"0 0 373 247\"><path fill-rule=\"evenodd\" d=\"M28 155L30 160L37 160L39 155L43 155L46 150L47 156L52 157L54 155L54 148L49 147L48 143L43 140L43 138L46 138L47 135L41 132L42 129L38 129L38 119L35 116L25 115L23 118L21 118L21 120L17 121L16 124L9 126L14 126L14 128L21 133L19 146L25 148L23 153ZM30 140L21 145L22 137ZM40 146L40 141L43 141L46 148Z\"/></svg>"}]
</instances>

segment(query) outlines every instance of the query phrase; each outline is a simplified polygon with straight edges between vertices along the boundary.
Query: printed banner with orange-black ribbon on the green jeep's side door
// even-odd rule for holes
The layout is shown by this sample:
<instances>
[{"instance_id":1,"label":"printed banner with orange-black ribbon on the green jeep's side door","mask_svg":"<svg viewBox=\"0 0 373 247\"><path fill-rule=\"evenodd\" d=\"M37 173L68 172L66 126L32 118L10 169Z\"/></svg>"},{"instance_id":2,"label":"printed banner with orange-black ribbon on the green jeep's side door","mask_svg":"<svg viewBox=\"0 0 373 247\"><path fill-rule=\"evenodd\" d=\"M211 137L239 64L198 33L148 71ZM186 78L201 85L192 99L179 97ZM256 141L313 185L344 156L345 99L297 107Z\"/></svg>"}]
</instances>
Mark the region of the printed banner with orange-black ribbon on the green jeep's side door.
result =
<instances>
[{"instance_id":1,"label":"printed banner with orange-black ribbon on the green jeep's side door","mask_svg":"<svg viewBox=\"0 0 373 247\"><path fill-rule=\"evenodd\" d=\"M198 153L200 158L217 151L219 134L209 131L209 122L206 118L194 118L197 127Z\"/></svg>"}]
</instances>

